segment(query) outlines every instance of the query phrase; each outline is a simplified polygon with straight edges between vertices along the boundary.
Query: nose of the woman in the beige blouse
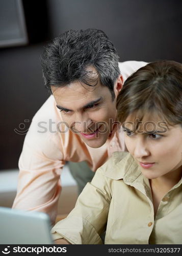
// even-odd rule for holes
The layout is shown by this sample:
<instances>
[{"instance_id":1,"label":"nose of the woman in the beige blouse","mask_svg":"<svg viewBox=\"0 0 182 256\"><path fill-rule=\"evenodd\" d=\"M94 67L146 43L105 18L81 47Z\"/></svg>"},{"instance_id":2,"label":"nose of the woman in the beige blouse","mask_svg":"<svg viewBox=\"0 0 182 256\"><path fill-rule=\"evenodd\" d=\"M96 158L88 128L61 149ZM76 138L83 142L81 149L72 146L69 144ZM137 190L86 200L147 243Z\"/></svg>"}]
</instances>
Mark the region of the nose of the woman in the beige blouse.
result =
<instances>
[{"instance_id":1,"label":"nose of the woman in the beige blouse","mask_svg":"<svg viewBox=\"0 0 182 256\"><path fill-rule=\"evenodd\" d=\"M148 150L147 143L142 139L137 140L135 144L135 151L134 151L135 158L142 159L143 157L146 157L149 155L150 155L150 152Z\"/></svg>"}]
</instances>

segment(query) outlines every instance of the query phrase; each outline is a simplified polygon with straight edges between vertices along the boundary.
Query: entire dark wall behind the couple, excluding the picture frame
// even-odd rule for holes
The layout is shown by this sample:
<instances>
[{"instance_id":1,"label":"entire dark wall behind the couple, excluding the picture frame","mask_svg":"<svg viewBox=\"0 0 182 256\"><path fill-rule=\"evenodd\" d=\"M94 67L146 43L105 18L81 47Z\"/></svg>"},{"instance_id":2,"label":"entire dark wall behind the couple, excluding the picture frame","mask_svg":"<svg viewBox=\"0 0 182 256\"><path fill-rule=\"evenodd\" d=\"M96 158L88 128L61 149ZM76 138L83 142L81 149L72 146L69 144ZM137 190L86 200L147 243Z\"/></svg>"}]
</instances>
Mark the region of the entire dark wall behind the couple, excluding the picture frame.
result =
<instances>
[{"instance_id":1,"label":"entire dark wall behind the couple, excluding the picture frame","mask_svg":"<svg viewBox=\"0 0 182 256\"><path fill-rule=\"evenodd\" d=\"M0 50L0 169L18 166L25 135L14 129L20 123L28 129L49 96L39 61L45 40L69 29L97 28L114 42L120 61L182 60L181 0L24 0L23 4L29 45Z\"/></svg>"}]
</instances>

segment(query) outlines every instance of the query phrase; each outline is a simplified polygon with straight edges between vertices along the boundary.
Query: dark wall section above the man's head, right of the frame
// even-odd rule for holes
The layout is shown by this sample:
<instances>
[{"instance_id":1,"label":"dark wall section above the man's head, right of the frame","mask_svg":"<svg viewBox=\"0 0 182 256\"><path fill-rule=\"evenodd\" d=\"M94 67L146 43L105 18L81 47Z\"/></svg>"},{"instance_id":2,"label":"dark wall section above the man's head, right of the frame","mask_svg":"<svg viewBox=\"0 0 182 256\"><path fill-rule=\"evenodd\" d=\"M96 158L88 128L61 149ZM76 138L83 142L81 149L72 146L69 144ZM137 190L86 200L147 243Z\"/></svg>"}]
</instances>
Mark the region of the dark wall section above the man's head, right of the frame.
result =
<instances>
[{"instance_id":1,"label":"dark wall section above the man's head, right of the frame","mask_svg":"<svg viewBox=\"0 0 182 256\"><path fill-rule=\"evenodd\" d=\"M120 60L182 60L180 0L48 0L51 33L98 28Z\"/></svg>"}]
</instances>

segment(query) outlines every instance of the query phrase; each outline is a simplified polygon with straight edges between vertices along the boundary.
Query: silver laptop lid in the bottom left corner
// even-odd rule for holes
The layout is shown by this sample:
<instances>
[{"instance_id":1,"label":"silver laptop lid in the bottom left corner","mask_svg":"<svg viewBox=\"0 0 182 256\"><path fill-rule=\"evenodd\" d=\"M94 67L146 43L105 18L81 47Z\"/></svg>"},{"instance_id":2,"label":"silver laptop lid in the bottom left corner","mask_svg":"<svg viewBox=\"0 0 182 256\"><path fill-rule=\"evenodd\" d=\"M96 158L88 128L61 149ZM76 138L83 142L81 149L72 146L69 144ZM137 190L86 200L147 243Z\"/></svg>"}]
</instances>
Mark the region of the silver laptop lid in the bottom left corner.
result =
<instances>
[{"instance_id":1,"label":"silver laptop lid in the bottom left corner","mask_svg":"<svg viewBox=\"0 0 182 256\"><path fill-rule=\"evenodd\" d=\"M0 207L0 244L54 244L47 214Z\"/></svg>"}]
</instances>

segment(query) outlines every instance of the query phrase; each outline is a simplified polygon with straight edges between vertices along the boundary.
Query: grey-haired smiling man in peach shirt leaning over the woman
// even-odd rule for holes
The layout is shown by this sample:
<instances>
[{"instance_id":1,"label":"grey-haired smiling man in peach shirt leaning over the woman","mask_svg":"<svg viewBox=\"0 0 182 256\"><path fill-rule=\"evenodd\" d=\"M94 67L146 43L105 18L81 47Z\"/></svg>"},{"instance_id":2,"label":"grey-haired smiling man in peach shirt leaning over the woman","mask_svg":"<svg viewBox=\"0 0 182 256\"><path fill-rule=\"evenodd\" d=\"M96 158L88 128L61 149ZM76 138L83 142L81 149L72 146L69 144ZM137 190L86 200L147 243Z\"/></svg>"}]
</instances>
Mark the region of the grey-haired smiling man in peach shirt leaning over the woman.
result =
<instances>
[{"instance_id":1,"label":"grey-haired smiling man in peach shirt leaning over the woman","mask_svg":"<svg viewBox=\"0 0 182 256\"><path fill-rule=\"evenodd\" d=\"M25 137L13 208L46 212L54 223L65 161L86 161L95 172L113 152L126 150L114 123L116 97L124 80L146 63L120 63L121 75L118 59L112 42L96 29L67 31L47 46L43 77L53 95Z\"/></svg>"}]
</instances>

